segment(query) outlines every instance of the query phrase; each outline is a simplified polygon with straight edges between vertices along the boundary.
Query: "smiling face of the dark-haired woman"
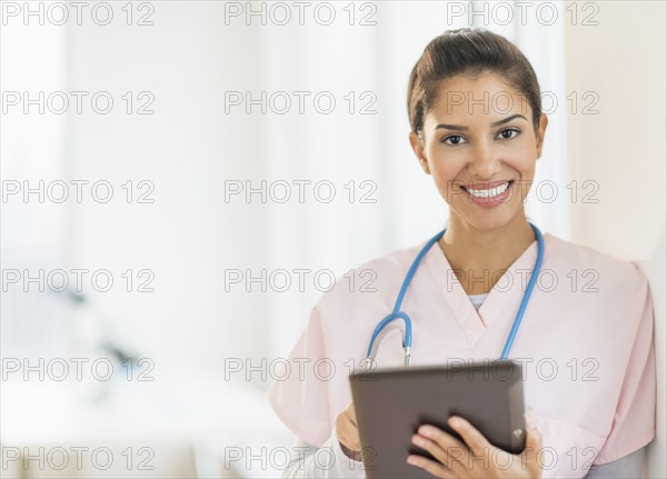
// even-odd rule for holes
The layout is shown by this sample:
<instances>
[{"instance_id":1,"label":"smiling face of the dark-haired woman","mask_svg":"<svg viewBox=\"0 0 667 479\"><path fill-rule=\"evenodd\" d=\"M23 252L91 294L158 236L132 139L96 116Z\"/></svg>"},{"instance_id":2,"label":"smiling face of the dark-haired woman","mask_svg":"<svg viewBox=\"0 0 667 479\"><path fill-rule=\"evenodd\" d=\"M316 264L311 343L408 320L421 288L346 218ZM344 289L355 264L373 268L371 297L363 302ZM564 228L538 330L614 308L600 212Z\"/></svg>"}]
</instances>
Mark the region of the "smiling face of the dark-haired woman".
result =
<instances>
[{"instance_id":1,"label":"smiling face of the dark-haired woman","mask_svg":"<svg viewBox=\"0 0 667 479\"><path fill-rule=\"evenodd\" d=\"M547 117L532 127L525 96L494 73L455 77L440 86L424 131L410 143L450 209L450 221L495 229L524 216L541 156Z\"/></svg>"}]
</instances>

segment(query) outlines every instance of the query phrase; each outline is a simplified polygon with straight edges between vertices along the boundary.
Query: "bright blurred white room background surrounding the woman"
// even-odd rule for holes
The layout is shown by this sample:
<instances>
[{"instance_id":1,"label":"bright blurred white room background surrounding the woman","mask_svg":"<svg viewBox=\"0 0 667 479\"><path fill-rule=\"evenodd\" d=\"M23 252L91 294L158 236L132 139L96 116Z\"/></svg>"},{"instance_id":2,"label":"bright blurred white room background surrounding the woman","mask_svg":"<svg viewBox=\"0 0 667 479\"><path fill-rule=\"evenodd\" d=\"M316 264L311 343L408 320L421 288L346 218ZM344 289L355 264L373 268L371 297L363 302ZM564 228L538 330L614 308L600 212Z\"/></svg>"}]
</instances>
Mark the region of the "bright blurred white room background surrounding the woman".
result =
<instances>
[{"instance_id":1,"label":"bright blurred white room background surrounding the woman","mask_svg":"<svg viewBox=\"0 0 667 479\"><path fill-rule=\"evenodd\" d=\"M2 477L279 476L267 365L447 220L406 93L452 28L532 63L528 216L643 268L665 377L665 2L0 3Z\"/></svg>"}]
</instances>

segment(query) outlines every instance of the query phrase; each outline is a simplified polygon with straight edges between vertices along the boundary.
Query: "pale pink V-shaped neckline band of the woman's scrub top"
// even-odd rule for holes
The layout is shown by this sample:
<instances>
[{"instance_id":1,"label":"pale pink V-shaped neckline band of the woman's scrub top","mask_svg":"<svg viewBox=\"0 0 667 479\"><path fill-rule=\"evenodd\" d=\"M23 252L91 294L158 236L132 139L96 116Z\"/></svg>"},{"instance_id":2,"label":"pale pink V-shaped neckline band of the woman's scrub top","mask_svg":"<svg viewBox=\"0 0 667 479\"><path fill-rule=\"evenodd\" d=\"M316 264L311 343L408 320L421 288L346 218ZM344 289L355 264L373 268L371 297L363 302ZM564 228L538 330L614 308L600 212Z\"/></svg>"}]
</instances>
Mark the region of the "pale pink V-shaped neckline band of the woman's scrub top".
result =
<instances>
[{"instance_id":1,"label":"pale pink V-shaped neckline band of the woman's scrub top","mask_svg":"<svg viewBox=\"0 0 667 479\"><path fill-rule=\"evenodd\" d=\"M542 237L545 240L546 257L548 252L547 242L549 242L547 238L549 234L544 233ZM522 281L525 271L532 271L536 259L537 240L534 240L498 278L498 281L488 292L488 297L479 307L479 310L476 310L470 298L464 290L464 287L454 275L451 265L449 263L445 251L440 248L439 242L434 245L424 257L427 270L445 297L446 306L461 325L470 347L475 346L486 330L494 325L494 321L500 315L509 298L519 298L518 301L515 301L518 309L525 289L521 288L521 283L527 282L527 280ZM509 319L510 322L515 315L516 311L512 311L511 318Z\"/></svg>"}]
</instances>

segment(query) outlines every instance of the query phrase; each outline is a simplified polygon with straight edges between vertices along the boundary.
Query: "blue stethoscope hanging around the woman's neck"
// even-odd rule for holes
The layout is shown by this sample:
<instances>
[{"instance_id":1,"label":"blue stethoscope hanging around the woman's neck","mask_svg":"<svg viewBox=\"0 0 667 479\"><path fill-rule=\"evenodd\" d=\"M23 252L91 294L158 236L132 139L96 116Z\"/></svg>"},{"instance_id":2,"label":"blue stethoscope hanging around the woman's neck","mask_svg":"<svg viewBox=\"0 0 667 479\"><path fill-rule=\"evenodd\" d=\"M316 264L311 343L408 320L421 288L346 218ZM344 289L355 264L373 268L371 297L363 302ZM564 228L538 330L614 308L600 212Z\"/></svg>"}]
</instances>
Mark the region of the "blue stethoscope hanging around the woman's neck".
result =
<instances>
[{"instance_id":1,"label":"blue stethoscope hanging around the woman's neck","mask_svg":"<svg viewBox=\"0 0 667 479\"><path fill-rule=\"evenodd\" d=\"M531 222L529 222L528 224L530 224L530 227L532 228L532 231L535 231L535 238L537 239L537 259L535 260L535 267L532 268L532 273L530 275L530 280L528 281L528 287L526 288L526 292L524 293L524 299L521 300L521 305L519 306L517 316L515 317L514 323L511 325L511 330L509 331L509 335L507 336L507 340L505 341L505 347L502 348L502 353L500 355L500 359L507 359L507 356L509 355L511 345L515 340L515 337L517 336L517 331L519 330L519 326L521 323L521 318L524 318L524 312L526 311L526 306L528 305L530 295L532 293L532 290L535 289L535 283L537 281L537 277L538 277L539 270L541 268L542 257L545 255L545 241L542 239L541 231ZM438 234L436 234L430 240L428 240L428 242L424 246L424 248L421 248L421 251L419 251L419 253L415 258L415 261L412 261L412 265L410 266L410 269L408 270L408 273L406 275L406 278L404 279L402 286L400 287L400 291L398 292L398 298L396 298L396 305L394 306L394 311L389 316L387 316L385 319L382 319L378 323L378 326L376 326L376 329L372 332L372 336L370 338L370 343L368 345L368 352L366 353L366 359L362 362L362 363L366 363L367 368L370 369L370 367L372 366L372 357L370 355L372 352L372 345L375 343L376 338L379 336L379 333L382 331L382 329L385 329L385 327L389 322L391 322L398 318L402 319L404 322L406 323L406 333L404 336L404 341L402 341L404 351L405 351L404 365L405 365L405 367L410 366L410 359L411 359L410 349L412 347L412 321L410 320L410 317L406 312L400 310L400 306L402 305L402 300L404 300L404 297L406 296L406 291L408 290L408 286L410 285L410 281L412 281L412 277L415 276L415 272L417 271L417 267L419 266L421 258L424 258L426 256L426 253L428 252L428 250L440 238L442 238L446 230L447 229L444 229Z\"/></svg>"}]
</instances>

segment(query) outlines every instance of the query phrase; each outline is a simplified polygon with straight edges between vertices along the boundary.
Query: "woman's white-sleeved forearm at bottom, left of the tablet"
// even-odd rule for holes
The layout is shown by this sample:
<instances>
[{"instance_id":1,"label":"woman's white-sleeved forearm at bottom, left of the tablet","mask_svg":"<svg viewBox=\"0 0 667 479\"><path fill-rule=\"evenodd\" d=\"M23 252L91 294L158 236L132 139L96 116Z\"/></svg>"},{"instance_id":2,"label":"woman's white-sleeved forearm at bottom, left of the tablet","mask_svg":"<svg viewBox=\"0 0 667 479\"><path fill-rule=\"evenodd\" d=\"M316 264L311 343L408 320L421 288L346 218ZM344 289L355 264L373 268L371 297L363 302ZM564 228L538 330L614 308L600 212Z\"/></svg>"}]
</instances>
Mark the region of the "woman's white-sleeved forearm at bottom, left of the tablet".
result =
<instances>
[{"instance_id":1,"label":"woman's white-sleeved forearm at bottom, left of the tablet","mask_svg":"<svg viewBox=\"0 0 667 479\"><path fill-rule=\"evenodd\" d=\"M296 438L291 449L291 459L282 477L288 478L350 478L366 477L364 463L348 458L342 451L336 428L329 439L317 448L300 438Z\"/></svg>"}]
</instances>

